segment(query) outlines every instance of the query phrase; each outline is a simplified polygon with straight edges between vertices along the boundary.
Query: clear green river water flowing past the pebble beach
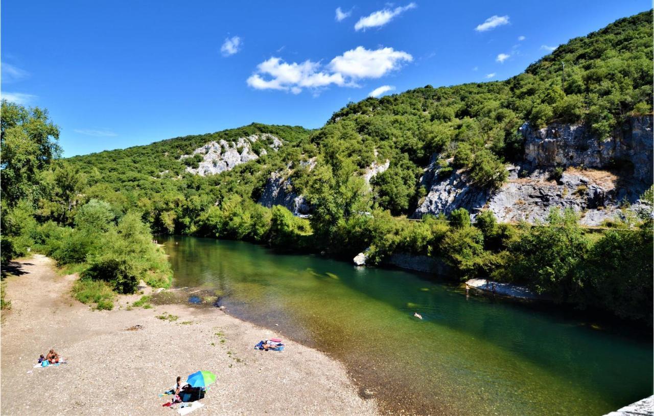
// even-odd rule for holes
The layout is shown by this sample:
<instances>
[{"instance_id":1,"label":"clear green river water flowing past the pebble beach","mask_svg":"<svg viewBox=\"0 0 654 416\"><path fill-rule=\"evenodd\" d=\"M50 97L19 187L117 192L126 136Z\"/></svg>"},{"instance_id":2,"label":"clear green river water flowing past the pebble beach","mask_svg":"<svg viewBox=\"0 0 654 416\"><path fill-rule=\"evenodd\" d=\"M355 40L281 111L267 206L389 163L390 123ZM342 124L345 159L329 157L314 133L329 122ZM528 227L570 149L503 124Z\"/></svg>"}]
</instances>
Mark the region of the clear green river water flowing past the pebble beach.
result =
<instances>
[{"instance_id":1,"label":"clear green river water flowing past the pebble beach","mask_svg":"<svg viewBox=\"0 0 654 416\"><path fill-rule=\"evenodd\" d=\"M603 415L652 393L651 339L553 305L466 298L415 273L239 241L162 242L175 286L220 290L230 314L341 360L393 413Z\"/></svg>"}]
</instances>

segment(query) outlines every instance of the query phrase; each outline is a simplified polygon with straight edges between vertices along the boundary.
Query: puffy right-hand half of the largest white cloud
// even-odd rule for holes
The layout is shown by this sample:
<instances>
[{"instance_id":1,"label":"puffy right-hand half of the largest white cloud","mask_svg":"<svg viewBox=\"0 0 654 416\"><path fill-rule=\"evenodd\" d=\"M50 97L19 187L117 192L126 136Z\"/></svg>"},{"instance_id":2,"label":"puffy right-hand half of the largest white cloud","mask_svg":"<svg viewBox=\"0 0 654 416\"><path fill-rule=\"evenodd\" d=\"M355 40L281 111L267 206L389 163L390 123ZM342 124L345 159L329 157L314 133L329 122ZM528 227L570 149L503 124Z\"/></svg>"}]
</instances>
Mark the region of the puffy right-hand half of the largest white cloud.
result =
<instances>
[{"instance_id":1,"label":"puffy right-hand half of the largest white cloud","mask_svg":"<svg viewBox=\"0 0 654 416\"><path fill-rule=\"evenodd\" d=\"M413 56L393 50L393 48L379 48L368 50L357 46L330 62L332 71L352 78L379 78L388 72L398 69L402 62L413 61Z\"/></svg>"}]
</instances>

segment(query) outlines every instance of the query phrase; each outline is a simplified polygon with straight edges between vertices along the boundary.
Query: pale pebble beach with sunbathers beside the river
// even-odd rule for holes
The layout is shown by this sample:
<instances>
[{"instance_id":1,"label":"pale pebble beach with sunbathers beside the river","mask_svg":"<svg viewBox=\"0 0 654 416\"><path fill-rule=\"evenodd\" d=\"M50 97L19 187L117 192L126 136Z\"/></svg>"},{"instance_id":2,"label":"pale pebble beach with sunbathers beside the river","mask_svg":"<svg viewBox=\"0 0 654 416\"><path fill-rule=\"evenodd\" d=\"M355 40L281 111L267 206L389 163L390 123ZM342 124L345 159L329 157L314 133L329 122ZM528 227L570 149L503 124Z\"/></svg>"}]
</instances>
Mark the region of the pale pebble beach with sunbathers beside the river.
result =
<instances>
[{"instance_id":1,"label":"pale pebble beach with sunbathers beside the river","mask_svg":"<svg viewBox=\"0 0 654 416\"><path fill-rule=\"evenodd\" d=\"M282 353L252 349L270 330L186 305L92 311L69 296L75 276L57 275L52 260L16 266L1 326L2 415L173 415L158 394L197 370L217 381L193 415L377 413L336 360L291 341ZM163 312L179 319L157 319ZM52 347L69 364L33 368Z\"/></svg>"}]
</instances>

